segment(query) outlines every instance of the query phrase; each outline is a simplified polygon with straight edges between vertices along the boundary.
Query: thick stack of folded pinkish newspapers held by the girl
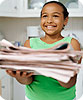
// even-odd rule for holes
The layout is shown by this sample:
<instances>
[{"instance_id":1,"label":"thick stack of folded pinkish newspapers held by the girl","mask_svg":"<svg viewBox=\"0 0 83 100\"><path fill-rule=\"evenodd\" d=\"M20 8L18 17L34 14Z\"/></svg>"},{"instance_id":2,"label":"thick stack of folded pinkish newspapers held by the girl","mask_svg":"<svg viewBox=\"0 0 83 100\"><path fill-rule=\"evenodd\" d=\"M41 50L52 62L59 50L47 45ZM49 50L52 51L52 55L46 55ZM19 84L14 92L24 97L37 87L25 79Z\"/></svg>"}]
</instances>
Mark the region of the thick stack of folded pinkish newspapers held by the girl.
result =
<instances>
[{"instance_id":1,"label":"thick stack of folded pinkish newspapers held by the girl","mask_svg":"<svg viewBox=\"0 0 83 100\"><path fill-rule=\"evenodd\" d=\"M67 83L83 67L77 64L83 51L74 51L64 42L49 49L34 50L0 41L0 68L34 72Z\"/></svg>"}]
</instances>

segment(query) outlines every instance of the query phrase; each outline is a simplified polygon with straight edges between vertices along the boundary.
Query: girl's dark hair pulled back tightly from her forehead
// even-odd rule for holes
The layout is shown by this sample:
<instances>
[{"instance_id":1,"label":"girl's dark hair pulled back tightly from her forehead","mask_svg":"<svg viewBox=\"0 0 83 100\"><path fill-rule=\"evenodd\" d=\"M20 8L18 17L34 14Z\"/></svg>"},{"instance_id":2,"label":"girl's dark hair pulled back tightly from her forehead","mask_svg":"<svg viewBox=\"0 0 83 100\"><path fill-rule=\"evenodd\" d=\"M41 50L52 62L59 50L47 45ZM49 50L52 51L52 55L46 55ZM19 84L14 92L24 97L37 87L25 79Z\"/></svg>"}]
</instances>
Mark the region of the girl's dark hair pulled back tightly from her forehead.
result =
<instances>
[{"instance_id":1,"label":"girl's dark hair pulled back tightly from her forehead","mask_svg":"<svg viewBox=\"0 0 83 100\"><path fill-rule=\"evenodd\" d=\"M63 8L64 19L65 19L66 17L68 17L69 12L67 11L67 8L66 8L61 2L58 2L58 1L49 1L49 2L46 2L46 3L43 5L42 9L43 9L47 4L50 4L50 3L56 3L56 4L60 5L60 6ZM42 10L41 10L41 16L42 16Z\"/></svg>"}]
</instances>

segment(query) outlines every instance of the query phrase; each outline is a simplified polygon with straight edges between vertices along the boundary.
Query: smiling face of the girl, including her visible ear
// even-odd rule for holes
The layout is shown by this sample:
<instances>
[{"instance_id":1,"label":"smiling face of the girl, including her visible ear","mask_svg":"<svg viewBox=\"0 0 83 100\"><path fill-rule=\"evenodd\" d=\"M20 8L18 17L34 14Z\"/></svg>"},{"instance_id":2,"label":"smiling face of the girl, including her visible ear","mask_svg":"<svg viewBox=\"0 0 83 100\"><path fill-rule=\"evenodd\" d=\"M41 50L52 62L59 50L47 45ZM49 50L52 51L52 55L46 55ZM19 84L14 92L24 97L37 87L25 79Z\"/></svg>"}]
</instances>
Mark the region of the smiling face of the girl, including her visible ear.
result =
<instances>
[{"instance_id":1,"label":"smiling face of the girl, including her visible ear","mask_svg":"<svg viewBox=\"0 0 83 100\"><path fill-rule=\"evenodd\" d=\"M58 4L50 3L42 9L41 28L46 34L60 33L67 21L68 18L64 19L63 8Z\"/></svg>"}]
</instances>

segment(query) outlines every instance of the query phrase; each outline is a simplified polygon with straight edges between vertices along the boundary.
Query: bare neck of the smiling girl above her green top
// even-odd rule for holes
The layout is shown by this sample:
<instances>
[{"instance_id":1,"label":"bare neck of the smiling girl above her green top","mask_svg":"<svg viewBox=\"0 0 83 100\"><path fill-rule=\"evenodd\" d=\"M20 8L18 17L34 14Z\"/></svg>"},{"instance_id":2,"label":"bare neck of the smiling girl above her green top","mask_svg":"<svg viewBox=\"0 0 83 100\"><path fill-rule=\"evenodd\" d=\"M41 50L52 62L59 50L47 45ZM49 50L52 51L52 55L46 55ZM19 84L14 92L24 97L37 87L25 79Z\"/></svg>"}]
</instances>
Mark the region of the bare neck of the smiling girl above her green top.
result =
<instances>
[{"instance_id":1,"label":"bare neck of the smiling girl above her green top","mask_svg":"<svg viewBox=\"0 0 83 100\"><path fill-rule=\"evenodd\" d=\"M57 42L59 40L63 39L63 36L61 36L60 34L57 36L49 36L49 35L45 35L45 37L42 37L41 40L48 43L48 44L52 44L54 42Z\"/></svg>"}]
</instances>

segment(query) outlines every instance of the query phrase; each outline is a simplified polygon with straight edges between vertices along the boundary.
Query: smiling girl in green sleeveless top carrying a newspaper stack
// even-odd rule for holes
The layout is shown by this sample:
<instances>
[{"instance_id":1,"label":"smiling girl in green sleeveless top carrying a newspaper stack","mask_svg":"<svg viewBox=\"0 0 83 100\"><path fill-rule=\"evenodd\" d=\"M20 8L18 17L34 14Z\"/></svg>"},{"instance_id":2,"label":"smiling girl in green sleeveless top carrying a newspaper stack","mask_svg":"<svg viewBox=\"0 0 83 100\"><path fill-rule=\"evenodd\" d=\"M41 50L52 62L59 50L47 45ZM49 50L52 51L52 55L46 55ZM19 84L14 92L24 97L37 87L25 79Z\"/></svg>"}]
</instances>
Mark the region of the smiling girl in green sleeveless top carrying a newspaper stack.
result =
<instances>
[{"instance_id":1,"label":"smiling girl in green sleeveless top carrying a newspaper stack","mask_svg":"<svg viewBox=\"0 0 83 100\"><path fill-rule=\"evenodd\" d=\"M80 44L71 37L61 36L61 31L68 22L68 11L65 6L57 1L45 3L41 11L41 28L45 37L26 40L24 46L32 49L46 49L60 42L71 43L74 50L80 50ZM29 100L74 100L76 76L68 83L63 83L42 75L27 74L16 71L7 73L26 85L26 98ZM21 73L21 74L20 74ZM26 99L28 100L28 99Z\"/></svg>"}]
</instances>

